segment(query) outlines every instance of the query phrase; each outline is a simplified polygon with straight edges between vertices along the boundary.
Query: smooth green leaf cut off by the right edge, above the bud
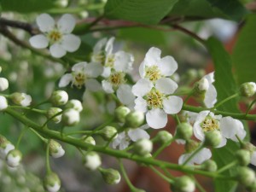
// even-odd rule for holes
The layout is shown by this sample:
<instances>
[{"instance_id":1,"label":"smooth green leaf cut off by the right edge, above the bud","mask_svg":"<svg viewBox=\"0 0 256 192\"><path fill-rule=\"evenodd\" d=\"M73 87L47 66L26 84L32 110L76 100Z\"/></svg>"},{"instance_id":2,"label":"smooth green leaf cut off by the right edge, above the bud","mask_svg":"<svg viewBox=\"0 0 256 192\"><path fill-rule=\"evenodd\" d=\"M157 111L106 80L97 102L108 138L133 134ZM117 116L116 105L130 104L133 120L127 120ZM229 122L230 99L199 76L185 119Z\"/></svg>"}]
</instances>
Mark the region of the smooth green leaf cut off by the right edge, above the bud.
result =
<instances>
[{"instance_id":1,"label":"smooth green leaf cut off by the right edge, above the bud","mask_svg":"<svg viewBox=\"0 0 256 192\"><path fill-rule=\"evenodd\" d=\"M238 84L256 82L256 15L249 15L233 50L233 64Z\"/></svg>"}]
</instances>

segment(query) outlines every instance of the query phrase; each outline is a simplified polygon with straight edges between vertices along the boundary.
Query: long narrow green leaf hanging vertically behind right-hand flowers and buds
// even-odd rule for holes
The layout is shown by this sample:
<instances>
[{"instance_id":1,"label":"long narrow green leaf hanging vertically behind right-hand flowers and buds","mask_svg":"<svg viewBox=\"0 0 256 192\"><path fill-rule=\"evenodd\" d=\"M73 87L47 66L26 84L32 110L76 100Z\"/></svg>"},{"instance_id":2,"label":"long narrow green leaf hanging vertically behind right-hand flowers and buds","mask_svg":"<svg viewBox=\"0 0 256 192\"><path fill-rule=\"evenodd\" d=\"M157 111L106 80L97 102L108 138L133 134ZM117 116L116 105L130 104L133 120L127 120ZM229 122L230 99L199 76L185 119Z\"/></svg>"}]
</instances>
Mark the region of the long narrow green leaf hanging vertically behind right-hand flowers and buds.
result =
<instances>
[{"instance_id":1,"label":"long narrow green leaf hanging vertically behind right-hand flowers and buds","mask_svg":"<svg viewBox=\"0 0 256 192\"><path fill-rule=\"evenodd\" d=\"M212 60L214 62L215 67L215 87L218 92L218 101L222 101L228 96L232 96L236 93L236 83L232 74L232 63L230 59L230 55L224 49L223 44L221 44L215 38L209 38L207 40L207 48L212 55ZM229 102L225 102L218 109L224 110L228 112L239 112L236 100L232 99ZM236 152L238 146L237 143L229 141L224 148L216 148L212 150L213 160L216 160L218 167L223 167L232 160L235 159L234 153ZM234 174L234 170L230 170L229 172L225 172L226 175L232 176ZM231 192L236 189L236 182L231 181L221 181L215 180L214 186L216 192Z\"/></svg>"}]
</instances>

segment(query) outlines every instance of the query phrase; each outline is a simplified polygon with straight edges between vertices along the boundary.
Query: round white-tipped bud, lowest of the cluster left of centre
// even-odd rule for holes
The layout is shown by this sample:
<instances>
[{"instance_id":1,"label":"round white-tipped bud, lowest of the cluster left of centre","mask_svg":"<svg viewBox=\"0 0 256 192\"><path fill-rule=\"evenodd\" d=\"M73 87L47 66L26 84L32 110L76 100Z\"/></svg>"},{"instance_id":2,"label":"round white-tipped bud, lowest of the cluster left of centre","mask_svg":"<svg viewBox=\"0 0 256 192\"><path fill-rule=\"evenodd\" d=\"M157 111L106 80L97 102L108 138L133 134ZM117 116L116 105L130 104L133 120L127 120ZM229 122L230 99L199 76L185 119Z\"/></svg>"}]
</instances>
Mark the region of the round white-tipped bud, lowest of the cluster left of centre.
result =
<instances>
[{"instance_id":1,"label":"round white-tipped bud, lowest of the cluster left of centre","mask_svg":"<svg viewBox=\"0 0 256 192\"><path fill-rule=\"evenodd\" d=\"M63 112L61 121L67 126L76 125L80 121L80 113L73 108L69 108Z\"/></svg>"}]
</instances>

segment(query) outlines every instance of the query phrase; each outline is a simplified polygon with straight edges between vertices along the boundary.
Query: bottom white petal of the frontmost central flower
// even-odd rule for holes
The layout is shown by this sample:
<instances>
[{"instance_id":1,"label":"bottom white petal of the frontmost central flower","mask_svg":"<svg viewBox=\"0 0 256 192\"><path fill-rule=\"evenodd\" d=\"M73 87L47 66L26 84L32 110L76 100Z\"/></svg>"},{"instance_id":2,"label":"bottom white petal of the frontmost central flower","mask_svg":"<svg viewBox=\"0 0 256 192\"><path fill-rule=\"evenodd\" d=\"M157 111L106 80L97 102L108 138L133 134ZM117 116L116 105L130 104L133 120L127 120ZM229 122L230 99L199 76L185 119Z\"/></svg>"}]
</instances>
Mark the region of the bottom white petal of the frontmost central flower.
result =
<instances>
[{"instance_id":1,"label":"bottom white petal of the frontmost central flower","mask_svg":"<svg viewBox=\"0 0 256 192\"><path fill-rule=\"evenodd\" d=\"M154 108L146 114L148 125L153 129L160 129L167 124L167 114L160 108Z\"/></svg>"}]
</instances>

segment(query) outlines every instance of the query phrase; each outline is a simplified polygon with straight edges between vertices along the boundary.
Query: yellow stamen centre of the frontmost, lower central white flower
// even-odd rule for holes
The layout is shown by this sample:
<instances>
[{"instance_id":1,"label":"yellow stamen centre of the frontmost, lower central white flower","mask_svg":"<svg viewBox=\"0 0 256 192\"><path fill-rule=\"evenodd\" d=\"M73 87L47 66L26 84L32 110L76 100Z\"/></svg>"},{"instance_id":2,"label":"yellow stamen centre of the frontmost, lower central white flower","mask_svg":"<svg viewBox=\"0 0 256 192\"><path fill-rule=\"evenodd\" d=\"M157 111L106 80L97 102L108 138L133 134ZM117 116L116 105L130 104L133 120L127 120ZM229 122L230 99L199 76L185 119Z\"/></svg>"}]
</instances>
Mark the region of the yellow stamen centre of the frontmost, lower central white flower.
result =
<instances>
[{"instance_id":1,"label":"yellow stamen centre of the frontmost, lower central white flower","mask_svg":"<svg viewBox=\"0 0 256 192\"><path fill-rule=\"evenodd\" d=\"M163 96L159 90L151 90L147 95L148 108L163 108Z\"/></svg>"}]
</instances>

